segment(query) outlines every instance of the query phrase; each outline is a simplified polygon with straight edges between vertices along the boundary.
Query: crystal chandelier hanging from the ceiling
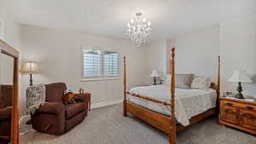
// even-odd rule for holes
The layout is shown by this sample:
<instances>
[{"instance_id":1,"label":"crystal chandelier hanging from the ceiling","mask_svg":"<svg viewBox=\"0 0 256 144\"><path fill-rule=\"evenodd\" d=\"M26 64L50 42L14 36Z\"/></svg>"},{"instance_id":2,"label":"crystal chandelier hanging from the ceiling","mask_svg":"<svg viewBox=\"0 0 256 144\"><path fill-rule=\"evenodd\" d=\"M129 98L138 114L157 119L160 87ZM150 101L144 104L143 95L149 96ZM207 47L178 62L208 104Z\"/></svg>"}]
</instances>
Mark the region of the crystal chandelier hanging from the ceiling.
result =
<instances>
[{"instance_id":1,"label":"crystal chandelier hanging from the ceiling","mask_svg":"<svg viewBox=\"0 0 256 144\"><path fill-rule=\"evenodd\" d=\"M126 34L131 37L131 43L140 47L148 43L151 31L150 21L143 17L143 13L137 13L135 19L127 24Z\"/></svg>"}]
</instances>

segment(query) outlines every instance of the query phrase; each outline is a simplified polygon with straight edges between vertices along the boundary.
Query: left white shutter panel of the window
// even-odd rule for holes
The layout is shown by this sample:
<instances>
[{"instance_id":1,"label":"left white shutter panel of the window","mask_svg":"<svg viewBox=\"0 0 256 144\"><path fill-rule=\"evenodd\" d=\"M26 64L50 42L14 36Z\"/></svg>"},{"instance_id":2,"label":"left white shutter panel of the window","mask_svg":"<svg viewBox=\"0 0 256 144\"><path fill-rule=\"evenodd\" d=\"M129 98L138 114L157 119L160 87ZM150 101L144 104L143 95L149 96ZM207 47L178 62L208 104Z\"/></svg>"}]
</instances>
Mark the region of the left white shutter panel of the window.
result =
<instances>
[{"instance_id":1,"label":"left white shutter panel of the window","mask_svg":"<svg viewBox=\"0 0 256 144\"><path fill-rule=\"evenodd\" d=\"M101 50L83 49L84 77L101 76Z\"/></svg>"}]
</instances>

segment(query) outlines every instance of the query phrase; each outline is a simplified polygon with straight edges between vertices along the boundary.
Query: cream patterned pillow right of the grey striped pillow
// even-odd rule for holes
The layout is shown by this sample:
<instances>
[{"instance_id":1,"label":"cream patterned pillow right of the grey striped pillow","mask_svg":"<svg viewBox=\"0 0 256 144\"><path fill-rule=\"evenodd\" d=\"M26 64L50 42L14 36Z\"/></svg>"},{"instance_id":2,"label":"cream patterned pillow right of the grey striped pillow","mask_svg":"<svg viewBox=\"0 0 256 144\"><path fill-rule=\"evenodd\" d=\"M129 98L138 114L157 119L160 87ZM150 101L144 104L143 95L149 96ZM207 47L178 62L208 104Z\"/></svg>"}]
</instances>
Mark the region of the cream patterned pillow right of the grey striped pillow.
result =
<instances>
[{"instance_id":1,"label":"cream patterned pillow right of the grey striped pillow","mask_svg":"<svg viewBox=\"0 0 256 144\"><path fill-rule=\"evenodd\" d=\"M211 86L211 79L207 77L195 76L190 84L192 89L209 89Z\"/></svg>"}]
</instances>

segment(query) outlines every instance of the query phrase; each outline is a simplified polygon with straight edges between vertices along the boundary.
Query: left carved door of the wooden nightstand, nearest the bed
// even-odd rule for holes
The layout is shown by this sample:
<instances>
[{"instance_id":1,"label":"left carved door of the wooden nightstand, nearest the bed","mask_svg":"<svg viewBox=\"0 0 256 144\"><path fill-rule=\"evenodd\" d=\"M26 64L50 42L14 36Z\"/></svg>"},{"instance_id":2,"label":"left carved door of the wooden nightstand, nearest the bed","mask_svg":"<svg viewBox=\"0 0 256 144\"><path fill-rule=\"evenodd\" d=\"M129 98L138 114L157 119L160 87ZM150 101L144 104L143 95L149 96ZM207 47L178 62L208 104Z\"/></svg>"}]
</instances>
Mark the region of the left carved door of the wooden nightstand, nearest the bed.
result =
<instances>
[{"instance_id":1,"label":"left carved door of the wooden nightstand, nearest the bed","mask_svg":"<svg viewBox=\"0 0 256 144\"><path fill-rule=\"evenodd\" d=\"M236 107L230 106L222 106L221 108L221 117L223 121L232 123L232 124L239 124L239 110Z\"/></svg>"}]
</instances>

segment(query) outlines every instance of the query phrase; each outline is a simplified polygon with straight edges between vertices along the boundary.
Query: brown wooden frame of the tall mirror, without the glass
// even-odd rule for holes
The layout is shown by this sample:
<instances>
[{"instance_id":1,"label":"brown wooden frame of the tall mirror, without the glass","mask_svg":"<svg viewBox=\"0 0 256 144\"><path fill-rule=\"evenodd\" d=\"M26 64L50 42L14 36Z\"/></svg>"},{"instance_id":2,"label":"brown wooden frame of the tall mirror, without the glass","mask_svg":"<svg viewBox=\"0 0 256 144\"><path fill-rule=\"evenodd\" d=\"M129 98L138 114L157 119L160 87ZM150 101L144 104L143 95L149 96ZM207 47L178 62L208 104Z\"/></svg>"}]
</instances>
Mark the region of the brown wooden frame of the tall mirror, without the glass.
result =
<instances>
[{"instance_id":1,"label":"brown wooden frame of the tall mirror, without the glass","mask_svg":"<svg viewBox=\"0 0 256 144\"><path fill-rule=\"evenodd\" d=\"M11 119L11 143L19 144L19 51L11 47L8 43L3 42L0 39L0 53L4 55L9 55L14 58L14 91L13 91L13 110L12 110L12 119Z\"/></svg>"}]
</instances>

